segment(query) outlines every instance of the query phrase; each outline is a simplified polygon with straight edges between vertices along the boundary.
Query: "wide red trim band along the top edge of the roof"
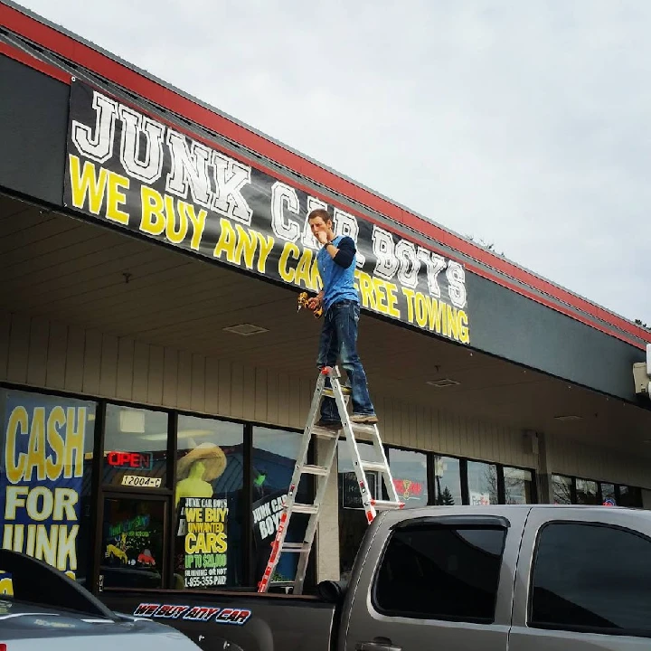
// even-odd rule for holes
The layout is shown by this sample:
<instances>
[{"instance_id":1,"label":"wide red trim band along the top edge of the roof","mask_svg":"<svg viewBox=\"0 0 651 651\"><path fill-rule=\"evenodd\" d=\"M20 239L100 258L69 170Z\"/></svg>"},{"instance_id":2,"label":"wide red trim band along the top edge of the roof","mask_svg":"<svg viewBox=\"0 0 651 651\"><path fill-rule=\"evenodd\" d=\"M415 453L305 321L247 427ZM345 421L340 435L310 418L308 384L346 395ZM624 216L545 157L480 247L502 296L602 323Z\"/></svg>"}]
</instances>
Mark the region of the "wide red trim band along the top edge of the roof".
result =
<instances>
[{"instance_id":1,"label":"wide red trim band along the top edge of the roof","mask_svg":"<svg viewBox=\"0 0 651 651\"><path fill-rule=\"evenodd\" d=\"M629 335L637 336L645 341L651 341L651 335L649 335L644 328L631 324L626 319L617 316L602 307L598 307L586 299L577 297L570 291L559 288L547 280L538 278L532 273L520 269L513 263L510 263L489 251L483 250L480 247L449 233L448 231L444 231L435 224L403 210L381 197L364 190L358 185L346 181L332 172L328 172L322 167L307 161L305 158L289 152L282 146L270 142L267 138L253 133L246 127L237 125L230 119L224 118L223 116L212 112L212 110L194 103L191 99L182 97L174 90L169 90L156 81L147 79L137 71L133 71L126 65L114 61L108 56L93 50L88 45L74 40L71 36L58 32L56 29L38 22L31 16L22 14L13 7L8 5L3 5L3 7L3 24L14 33L18 33L30 41L39 43L43 47L48 48L52 52L56 52L65 59L83 65L91 71L95 71L100 76L116 83L118 86L131 90L132 92L135 92L168 110L184 116L184 118L190 119L203 127L220 133L222 136L228 137L242 146L248 147L253 151L258 152L260 155L268 157L279 165L286 166L300 175L307 176L307 178L316 183L324 184L326 187L335 190L335 192L342 193L344 196L354 199L359 203L363 203L363 205L386 215L395 222L408 226L415 231L420 231L422 234L439 241L441 244L476 259L477 262L480 262L487 267L493 268L533 289L548 294L549 296L575 307L590 316L600 319L609 325L613 325L614 327L627 332ZM489 272L484 271L482 275L489 277ZM490 279L495 280L496 278L491 276ZM517 291L515 287L508 284L504 279L500 280L500 284ZM541 297L538 297L537 295L535 295L533 299L539 302L544 302ZM573 314L572 317L576 318ZM615 335L615 333L612 334Z\"/></svg>"}]
</instances>

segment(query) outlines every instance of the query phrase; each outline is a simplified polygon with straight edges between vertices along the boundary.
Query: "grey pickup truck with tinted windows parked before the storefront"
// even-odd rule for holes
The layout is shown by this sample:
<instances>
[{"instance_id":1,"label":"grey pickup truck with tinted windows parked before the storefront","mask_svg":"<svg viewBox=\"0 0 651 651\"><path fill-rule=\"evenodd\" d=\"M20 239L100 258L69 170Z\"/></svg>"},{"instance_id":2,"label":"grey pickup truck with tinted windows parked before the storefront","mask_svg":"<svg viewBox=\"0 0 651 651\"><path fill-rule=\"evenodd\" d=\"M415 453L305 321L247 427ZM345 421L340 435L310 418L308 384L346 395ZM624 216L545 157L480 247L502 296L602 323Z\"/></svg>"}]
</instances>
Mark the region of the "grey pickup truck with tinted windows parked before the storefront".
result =
<instances>
[{"instance_id":1,"label":"grey pickup truck with tinted windows parked before the storefront","mask_svg":"<svg viewBox=\"0 0 651 651\"><path fill-rule=\"evenodd\" d=\"M651 649L651 513L431 506L370 525L347 585L316 595L107 591L206 651Z\"/></svg>"}]
</instances>

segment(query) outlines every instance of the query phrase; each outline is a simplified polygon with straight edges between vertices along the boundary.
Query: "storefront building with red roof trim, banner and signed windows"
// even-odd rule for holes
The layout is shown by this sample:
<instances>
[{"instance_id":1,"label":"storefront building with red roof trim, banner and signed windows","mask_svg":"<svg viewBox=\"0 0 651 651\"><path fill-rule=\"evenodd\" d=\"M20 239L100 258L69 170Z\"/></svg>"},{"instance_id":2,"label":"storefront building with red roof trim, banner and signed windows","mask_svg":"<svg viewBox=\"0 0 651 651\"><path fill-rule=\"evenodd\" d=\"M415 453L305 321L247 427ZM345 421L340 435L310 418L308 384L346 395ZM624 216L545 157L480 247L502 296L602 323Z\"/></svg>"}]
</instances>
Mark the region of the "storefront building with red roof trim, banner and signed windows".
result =
<instances>
[{"instance_id":1,"label":"storefront building with red roof trim, banner and signed windows","mask_svg":"<svg viewBox=\"0 0 651 651\"><path fill-rule=\"evenodd\" d=\"M651 505L645 329L0 10L5 547L97 592L255 588L316 381L317 206L357 242L408 508ZM350 571L366 526L343 442L329 482L312 581Z\"/></svg>"}]
</instances>

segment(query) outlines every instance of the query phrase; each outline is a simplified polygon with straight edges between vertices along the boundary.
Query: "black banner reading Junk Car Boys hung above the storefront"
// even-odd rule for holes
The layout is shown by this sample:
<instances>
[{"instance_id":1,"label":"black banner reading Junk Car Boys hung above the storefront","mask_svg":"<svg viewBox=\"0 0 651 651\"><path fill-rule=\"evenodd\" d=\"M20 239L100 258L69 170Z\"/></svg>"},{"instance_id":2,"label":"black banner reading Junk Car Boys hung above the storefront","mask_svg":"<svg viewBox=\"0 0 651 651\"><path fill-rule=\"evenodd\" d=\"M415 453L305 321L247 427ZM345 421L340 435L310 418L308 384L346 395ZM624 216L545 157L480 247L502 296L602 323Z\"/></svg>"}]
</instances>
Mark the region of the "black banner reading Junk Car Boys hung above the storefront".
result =
<instances>
[{"instance_id":1,"label":"black banner reading Junk Car Boys hung above the storefront","mask_svg":"<svg viewBox=\"0 0 651 651\"><path fill-rule=\"evenodd\" d=\"M66 158L66 206L310 292L322 285L307 215L325 208L335 232L356 242L363 309L470 341L458 262L80 81L71 84Z\"/></svg>"}]
</instances>

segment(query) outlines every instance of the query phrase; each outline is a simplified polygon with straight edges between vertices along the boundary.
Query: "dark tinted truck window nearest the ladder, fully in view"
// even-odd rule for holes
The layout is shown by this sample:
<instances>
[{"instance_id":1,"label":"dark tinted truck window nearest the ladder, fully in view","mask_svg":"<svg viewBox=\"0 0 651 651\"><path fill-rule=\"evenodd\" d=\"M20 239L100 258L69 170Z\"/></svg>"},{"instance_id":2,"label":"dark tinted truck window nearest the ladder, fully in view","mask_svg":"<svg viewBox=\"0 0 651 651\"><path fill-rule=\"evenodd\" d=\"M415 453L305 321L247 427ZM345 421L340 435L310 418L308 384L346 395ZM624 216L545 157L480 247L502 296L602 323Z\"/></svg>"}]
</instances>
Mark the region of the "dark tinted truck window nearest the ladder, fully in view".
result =
<instances>
[{"instance_id":1,"label":"dark tinted truck window nearest the ladder, fully in view","mask_svg":"<svg viewBox=\"0 0 651 651\"><path fill-rule=\"evenodd\" d=\"M392 533L375 580L384 615L492 623L506 529L414 524Z\"/></svg>"}]
</instances>

